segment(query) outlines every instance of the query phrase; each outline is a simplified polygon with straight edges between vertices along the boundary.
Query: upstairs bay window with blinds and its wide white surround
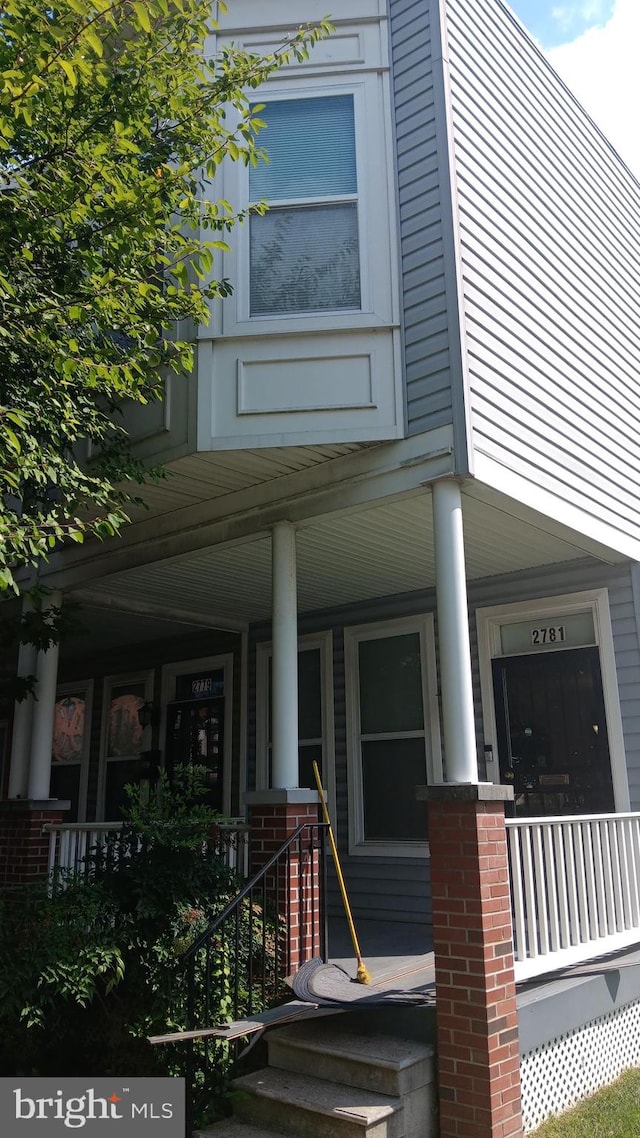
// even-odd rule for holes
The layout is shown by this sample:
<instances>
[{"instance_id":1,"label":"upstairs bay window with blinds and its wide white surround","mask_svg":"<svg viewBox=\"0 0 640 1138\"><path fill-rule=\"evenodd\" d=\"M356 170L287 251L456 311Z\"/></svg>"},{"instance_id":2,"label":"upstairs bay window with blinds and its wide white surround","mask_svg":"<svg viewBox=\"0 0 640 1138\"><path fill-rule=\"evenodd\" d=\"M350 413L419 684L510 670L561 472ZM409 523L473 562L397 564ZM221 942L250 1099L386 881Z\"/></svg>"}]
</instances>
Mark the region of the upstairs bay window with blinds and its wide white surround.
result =
<instances>
[{"instance_id":1,"label":"upstairs bay window with blinds and its wide white surround","mask_svg":"<svg viewBox=\"0 0 640 1138\"><path fill-rule=\"evenodd\" d=\"M361 22L361 3L355 13L345 0L335 35L251 93L266 123L257 141L269 160L224 163L212 192L240 212L260 201L269 208L233 230L216 265L233 294L214 302L203 339L399 323L387 26ZM276 47L273 5L252 0L251 10L256 23L243 46ZM347 14L358 15L352 25Z\"/></svg>"}]
</instances>

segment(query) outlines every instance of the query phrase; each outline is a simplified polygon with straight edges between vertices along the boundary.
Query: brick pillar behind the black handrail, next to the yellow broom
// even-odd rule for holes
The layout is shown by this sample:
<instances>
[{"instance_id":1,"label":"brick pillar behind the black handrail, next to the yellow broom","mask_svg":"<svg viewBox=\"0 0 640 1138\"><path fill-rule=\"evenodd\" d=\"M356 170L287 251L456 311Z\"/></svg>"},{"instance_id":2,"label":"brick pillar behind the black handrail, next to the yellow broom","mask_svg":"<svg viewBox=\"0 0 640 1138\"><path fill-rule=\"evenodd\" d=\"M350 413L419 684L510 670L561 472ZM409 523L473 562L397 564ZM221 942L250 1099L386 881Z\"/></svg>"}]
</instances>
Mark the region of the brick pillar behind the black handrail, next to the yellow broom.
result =
<instances>
[{"instance_id":1,"label":"brick pillar behind the black handrail, next to the yellow broom","mask_svg":"<svg viewBox=\"0 0 640 1138\"><path fill-rule=\"evenodd\" d=\"M289 975L317 956L321 946L325 898L320 864L317 791L264 790L245 795L249 807L249 872L269 861L300 825L309 823L302 840L289 848L286 863L268 874L270 900L276 906L282 934L281 974Z\"/></svg>"}]
</instances>

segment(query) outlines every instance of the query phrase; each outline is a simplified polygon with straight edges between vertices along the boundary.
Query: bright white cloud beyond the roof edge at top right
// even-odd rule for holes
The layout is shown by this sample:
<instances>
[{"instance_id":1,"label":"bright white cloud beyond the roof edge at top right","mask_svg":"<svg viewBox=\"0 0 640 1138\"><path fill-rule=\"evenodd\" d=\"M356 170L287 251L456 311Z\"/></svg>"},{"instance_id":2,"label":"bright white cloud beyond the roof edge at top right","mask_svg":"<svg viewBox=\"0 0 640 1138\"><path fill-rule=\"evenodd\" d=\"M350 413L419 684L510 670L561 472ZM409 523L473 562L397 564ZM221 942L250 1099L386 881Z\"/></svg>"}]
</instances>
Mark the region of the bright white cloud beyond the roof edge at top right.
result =
<instances>
[{"instance_id":1,"label":"bright white cloud beyond the roof edge at top right","mask_svg":"<svg viewBox=\"0 0 640 1138\"><path fill-rule=\"evenodd\" d=\"M584 7L600 8L596 0ZM565 8L572 6L565 5ZM616 0L610 19L547 51L551 64L640 178L640 2Z\"/></svg>"}]
</instances>

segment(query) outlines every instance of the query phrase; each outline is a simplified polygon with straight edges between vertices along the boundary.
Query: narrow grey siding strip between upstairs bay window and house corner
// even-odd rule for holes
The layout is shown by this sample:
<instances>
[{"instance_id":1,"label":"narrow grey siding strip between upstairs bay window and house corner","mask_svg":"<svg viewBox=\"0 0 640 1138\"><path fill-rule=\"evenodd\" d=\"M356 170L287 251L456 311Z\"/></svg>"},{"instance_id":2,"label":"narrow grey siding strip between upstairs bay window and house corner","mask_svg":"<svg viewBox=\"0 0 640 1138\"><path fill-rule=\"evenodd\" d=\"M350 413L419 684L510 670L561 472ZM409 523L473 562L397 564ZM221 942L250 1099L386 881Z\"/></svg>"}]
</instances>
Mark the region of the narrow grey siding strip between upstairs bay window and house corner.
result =
<instances>
[{"instance_id":1,"label":"narrow grey siding strip between upstairs bay window and house corner","mask_svg":"<svg viewBox=\"0 0 640 1138\"><path fill-rule=\"evenodd\" d=\"M424 0L391 0L409 434L452 421L432 40Z\"/></svg>"}]
</instances>

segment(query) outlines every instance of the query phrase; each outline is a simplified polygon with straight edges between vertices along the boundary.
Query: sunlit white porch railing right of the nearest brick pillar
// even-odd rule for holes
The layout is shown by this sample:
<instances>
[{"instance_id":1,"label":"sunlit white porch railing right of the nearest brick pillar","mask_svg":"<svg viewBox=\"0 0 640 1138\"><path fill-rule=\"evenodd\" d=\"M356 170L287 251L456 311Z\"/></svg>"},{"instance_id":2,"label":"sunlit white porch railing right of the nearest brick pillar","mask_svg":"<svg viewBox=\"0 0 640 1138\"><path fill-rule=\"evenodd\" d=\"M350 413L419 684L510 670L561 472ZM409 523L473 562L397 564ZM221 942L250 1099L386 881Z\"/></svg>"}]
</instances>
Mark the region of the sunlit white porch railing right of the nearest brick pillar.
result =
<instances>
[{"instance_id":1,"label":"sunlit white porch railing right of the nearest brick pillar","mask_svg":"<svg viewBox=\"0 0 640 1138\"><path fill-rule=\"evenodd\" d=\"M640 942L640 814L509 818L516 980Z\"/></svg>"}]
</instances>

